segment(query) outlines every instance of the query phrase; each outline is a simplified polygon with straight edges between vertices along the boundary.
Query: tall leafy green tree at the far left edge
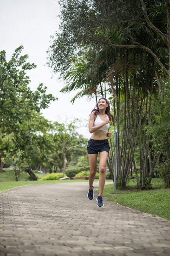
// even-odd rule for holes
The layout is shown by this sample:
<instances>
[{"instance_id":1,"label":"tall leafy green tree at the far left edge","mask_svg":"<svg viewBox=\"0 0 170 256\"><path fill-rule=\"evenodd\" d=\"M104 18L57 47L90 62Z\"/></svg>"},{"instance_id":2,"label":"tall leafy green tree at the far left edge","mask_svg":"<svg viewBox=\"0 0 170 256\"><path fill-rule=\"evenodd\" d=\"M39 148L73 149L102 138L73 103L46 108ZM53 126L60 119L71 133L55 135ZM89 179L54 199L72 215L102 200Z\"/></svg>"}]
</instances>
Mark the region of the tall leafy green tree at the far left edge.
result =
<instances>
[{"instance_id":1,"label":"tall leafy green tree at the far left edge","mask_svg":"<svg viewBox=\"0 0 170 256\"><path fill-rule=\"evenodd\" d=\"M47 87L42 83L35 92L29 88L30 79L26 70L36 66L27 63L28 55L21 56L22 49L22 46L18 47L9 62L6 52L0 52L0 156L1 159L4 156L4 138L10 136L13 144L13 148L10 148L11 159L16 155L18 159L26 159L29 166L37 134L48 130L45 128L48 121L41 116L41 109L47 108L50 101L57 99L52 94L46 94ZM22 152L20 157L17 157L17 152Z\"/></svg>"}]
</instances>

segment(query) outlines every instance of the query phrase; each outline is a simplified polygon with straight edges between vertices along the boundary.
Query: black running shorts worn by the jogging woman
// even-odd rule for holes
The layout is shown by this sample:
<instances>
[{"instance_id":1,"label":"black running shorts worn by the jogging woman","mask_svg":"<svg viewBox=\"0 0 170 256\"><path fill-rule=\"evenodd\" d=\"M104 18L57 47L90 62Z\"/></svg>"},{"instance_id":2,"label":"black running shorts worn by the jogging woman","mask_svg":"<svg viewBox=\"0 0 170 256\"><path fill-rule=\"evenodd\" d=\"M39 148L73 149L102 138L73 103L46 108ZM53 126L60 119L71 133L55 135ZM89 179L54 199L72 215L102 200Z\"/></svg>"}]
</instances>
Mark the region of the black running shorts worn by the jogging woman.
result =
<instances>
[{"instance_id":1,"label":"black running shorts worn by the jogging woman","mask_svg":"<svg viewBox=\"0 0 170 256\"><path fill-rule=\"evenodd\" d=\"M106 151L109 153L109 141L107 139L89 139L87 144L87 152L88 154L98 154L98 152Z\"/></svg>"}]
</instances>

